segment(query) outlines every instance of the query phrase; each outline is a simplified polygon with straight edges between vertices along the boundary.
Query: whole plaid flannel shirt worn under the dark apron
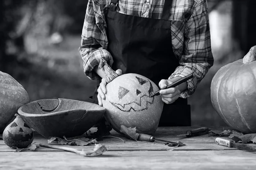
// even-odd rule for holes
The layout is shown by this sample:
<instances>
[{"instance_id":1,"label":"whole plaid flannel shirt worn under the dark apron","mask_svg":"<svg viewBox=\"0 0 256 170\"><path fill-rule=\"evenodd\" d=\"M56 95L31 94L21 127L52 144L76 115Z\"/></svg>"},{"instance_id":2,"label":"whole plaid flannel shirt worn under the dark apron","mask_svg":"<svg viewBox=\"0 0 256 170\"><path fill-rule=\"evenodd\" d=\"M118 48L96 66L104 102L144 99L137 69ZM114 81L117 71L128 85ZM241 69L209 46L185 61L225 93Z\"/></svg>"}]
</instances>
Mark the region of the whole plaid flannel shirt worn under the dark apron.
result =
<instances>
[{"instance_id":1,"label":"whole plaid flannel shirt worn under the dark apron","mask_svg":"<svg viewBox=\"0 0 256 170\"><path fill-rule=\"evenodd\" d=\"M109 65L113 64L107 51L106 16L104 11L111 0L89 0L84 19L79 52L83 59L84 73L90 79L100 77L93 72L103 57ZM164 0L119 0L116 11L122 14L160 19ZM173 0L170 10L172 49L179 59L174 77L184 77L190 73L194 78L187 81L187 89L180 93L186 98L194 93L201 79L213 65L211 51L207 0Z\"/></svg>"}]
</instances>

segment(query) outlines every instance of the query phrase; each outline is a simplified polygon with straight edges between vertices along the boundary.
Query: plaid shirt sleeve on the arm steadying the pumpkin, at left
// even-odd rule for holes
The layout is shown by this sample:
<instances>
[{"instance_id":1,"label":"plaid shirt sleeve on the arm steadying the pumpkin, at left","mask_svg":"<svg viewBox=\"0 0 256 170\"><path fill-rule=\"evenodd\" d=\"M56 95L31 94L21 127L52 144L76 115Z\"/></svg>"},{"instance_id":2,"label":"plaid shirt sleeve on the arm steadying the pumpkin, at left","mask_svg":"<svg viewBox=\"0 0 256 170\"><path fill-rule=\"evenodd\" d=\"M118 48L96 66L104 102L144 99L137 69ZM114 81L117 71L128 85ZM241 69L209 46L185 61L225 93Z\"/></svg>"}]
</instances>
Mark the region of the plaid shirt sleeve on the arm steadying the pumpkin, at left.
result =
<instances>
[{"instance_id":1,"label":"plaid shirt sleeve on the arm steadying the pumpkin, at left","mask_svg":"<svg viewBox=\"0 0 256 170\"><path fill-rule=\"evenodd\" d=\"M89 79L100 79L93 68L99 65L101 58L105 59L110 66L113 64L112 56L106 50L108 39L103 14L104 8L100 0L89 0L84 18L79 52L83 59L84 74Z\"/></svg>"}]
</instances>

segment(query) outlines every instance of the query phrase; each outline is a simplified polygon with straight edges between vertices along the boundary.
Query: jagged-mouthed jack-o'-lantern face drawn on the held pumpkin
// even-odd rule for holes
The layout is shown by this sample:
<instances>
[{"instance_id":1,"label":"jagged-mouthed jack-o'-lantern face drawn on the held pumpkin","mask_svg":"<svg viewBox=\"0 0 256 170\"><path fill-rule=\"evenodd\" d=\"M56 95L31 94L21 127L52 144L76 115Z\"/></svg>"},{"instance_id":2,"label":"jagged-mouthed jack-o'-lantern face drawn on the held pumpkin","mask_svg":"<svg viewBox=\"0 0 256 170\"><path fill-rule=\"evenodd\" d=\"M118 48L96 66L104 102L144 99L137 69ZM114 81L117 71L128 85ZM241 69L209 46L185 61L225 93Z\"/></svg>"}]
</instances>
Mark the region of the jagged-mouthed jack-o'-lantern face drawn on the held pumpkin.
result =
<instances>
[{"instance_id":1,"label":"jagged-mouthed jack-o'-lantern face drawn on the held pumpkin","mask_svg":"<svg viewBox=\"0 0 256 170\"><path fill-rule=\"evenodd\" d=\"M151 97L154 89L150 80L137 76L135 76L135 78L137 79L137 85L134 85L135 88L128 89L129 86L126 88L119 86L119 102L110 101L117 109L124 112L144 111L148 109L148 105L154 103L154 97Z\"/></svg>"}]
</instances>

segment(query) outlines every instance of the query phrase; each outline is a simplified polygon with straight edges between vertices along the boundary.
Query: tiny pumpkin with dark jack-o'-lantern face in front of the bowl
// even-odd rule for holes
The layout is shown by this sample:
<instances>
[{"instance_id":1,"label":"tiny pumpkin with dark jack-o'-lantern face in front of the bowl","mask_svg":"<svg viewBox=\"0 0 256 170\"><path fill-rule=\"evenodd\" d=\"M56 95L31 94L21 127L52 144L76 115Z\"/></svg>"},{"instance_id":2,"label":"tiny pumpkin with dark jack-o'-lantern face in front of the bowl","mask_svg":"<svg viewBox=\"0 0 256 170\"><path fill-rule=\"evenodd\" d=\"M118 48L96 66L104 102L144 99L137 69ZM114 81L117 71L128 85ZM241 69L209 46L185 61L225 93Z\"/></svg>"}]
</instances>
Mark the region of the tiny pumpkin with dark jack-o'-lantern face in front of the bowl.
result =
<instances>
[{"instance_id":1,"label":"tiny pumpkin with dark jack-o'-lantern face in front of the bowl","mask_svg":"<svg viewBox=\"0 0 256 170\"><path fill-rule=\"evenodd\" d=\"M3 131L3 141L9 147L25 148L33 142L32 129L16 114L16 118Z\"/></svg>"}]
</instances>

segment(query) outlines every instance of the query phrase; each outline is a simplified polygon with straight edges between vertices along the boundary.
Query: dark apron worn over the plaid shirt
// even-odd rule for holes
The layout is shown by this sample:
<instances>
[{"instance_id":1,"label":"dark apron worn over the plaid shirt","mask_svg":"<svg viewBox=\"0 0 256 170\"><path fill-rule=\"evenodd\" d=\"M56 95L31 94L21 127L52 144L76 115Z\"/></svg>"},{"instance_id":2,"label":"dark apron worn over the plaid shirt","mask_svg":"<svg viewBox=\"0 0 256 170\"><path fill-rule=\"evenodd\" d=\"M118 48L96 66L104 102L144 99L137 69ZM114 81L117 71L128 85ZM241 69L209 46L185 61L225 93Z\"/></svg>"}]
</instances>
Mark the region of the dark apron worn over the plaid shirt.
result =
<instances>
[{"instance_id":1,"label":"dark apron worn over the plaid shirt","mask_svg":"<svg viewBox=\"0 0 256 170\"><path fill-rule=\"evenodd\" d=\"M143 75L158 86L179 66L168 20L172 0L165 1L161 20L120 14L116 12L117 3L111 0L106 17L112 69ZM190 126L190 122L187 99L179 97L172 104L164 104L159 126Z\"/></svg>"}]
</instances>

